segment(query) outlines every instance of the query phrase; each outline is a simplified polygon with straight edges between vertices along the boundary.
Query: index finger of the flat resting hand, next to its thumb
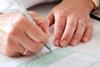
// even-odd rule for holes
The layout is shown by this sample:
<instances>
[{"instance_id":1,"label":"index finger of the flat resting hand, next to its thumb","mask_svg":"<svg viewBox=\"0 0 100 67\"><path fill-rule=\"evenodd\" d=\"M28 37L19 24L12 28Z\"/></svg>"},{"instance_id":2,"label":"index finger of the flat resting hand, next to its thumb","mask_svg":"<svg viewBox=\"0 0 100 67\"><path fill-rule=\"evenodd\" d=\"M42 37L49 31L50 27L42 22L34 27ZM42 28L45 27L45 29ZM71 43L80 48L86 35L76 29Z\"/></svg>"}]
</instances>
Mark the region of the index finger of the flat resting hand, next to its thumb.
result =
<instances>
[{"instance_id":1,"label":"index finger of the flat resting hand, next to its thumb","mask_svg":"<svg viewBox=\"0 0 100 67\"><path fill-rule=\"evenodd\" d=\"M55 25L54 25L54 44L60 46L60 39L64 32L66 17L63 15L55 14Z\"/></svg>"}]
</instances>

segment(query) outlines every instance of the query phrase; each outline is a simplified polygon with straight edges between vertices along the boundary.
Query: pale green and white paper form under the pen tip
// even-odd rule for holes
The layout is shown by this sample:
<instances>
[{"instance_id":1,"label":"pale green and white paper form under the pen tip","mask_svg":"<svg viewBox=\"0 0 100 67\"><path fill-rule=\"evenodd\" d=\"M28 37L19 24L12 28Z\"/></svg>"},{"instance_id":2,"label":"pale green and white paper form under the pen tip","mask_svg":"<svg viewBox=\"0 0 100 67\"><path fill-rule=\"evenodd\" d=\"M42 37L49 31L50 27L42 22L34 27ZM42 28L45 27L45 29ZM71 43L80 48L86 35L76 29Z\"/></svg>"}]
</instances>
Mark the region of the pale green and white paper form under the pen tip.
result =
<instances>
[{"instance_id":1,"label":"pale green and white paper form under the pen tip","mask_svg":"<svg viewBox=\"0 0 100 67\"><path fill-rule=\"evenodd\" d=\"M57 48L54 52L47 52L24 61L15 60L0 67L88 67L98 61L96 57L70 48Z\"/></svg>"}]
</instances>

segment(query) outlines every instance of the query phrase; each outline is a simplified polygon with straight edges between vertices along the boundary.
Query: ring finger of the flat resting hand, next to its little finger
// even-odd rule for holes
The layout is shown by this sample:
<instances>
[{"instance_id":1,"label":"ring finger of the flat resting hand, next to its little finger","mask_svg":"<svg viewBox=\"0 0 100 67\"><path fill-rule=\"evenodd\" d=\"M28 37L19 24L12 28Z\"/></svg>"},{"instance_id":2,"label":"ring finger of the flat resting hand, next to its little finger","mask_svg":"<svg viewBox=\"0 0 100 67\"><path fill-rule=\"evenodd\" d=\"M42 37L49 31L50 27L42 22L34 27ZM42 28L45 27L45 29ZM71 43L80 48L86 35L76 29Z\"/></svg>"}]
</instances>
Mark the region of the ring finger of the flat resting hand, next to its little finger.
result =
<instances>
[{"instance_id":1,"label":"ring finger of the flat resting hand, next to its little finger","mask_svg":"<svg viewBox=\"0 0 100 67\"><path fill-rule=\"evenodd\" d=\"M83 18L78 19L78 27L76 29L75 35L72 38L71 45L74 46L80 42L80 40L84 34L84 31L86 29L86 23L87 23L87 21L85 19L83 19Z\"/></svg>"}]
</instances>

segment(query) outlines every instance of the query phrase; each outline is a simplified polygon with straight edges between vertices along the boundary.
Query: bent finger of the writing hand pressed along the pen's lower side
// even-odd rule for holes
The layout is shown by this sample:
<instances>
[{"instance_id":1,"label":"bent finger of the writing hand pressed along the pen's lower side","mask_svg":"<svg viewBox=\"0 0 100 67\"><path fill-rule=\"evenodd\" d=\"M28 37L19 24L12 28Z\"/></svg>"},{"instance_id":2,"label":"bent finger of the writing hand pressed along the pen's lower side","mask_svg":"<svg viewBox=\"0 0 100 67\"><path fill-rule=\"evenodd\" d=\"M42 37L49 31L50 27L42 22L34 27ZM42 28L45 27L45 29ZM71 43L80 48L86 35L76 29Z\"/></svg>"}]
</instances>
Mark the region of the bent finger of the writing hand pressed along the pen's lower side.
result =
<instances>
[{"instance_id":1,"label":"bent finger of the writing hand pressed along the pen's lower side","mask_svg":"<svg viewBox=\"0 0 100 67\"><path fill-rule=\"evenodd\" d=\"M26 20L26 27L25 32L26 34L33 40L39 42L39 41L46 41L48 39L48 34L45 33L38 25L32 25L31 23L28 23L28 20ZM40 24L42 27L46 25L44 23ZM43 27L44 28L44 27ZM46 28L47 31L47 28Z\"/></svg>"}]
</instances>

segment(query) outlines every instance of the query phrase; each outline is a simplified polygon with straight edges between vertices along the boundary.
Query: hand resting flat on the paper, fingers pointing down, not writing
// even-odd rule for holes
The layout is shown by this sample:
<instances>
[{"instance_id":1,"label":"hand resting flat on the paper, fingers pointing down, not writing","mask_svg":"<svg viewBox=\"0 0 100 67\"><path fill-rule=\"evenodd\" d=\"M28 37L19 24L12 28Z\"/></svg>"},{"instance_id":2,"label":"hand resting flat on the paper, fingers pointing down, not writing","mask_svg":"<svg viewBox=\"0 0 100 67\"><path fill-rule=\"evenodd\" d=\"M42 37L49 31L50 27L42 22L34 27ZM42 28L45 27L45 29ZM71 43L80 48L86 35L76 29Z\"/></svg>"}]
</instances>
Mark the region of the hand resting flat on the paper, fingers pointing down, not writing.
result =
<instances>
[{"instance_id":1,"label":"hand resting flat on the paper, fingers pointing down, not writing","mask_svg":"<svg viewBox=\"0 0 100 67\"><path fill-rule=\"evenodd\" d=\"M66 47L87 42L92 35L90 12L94 6L90 0L63 0L47 16L54 24L55 46Z\"/></svg>"}]
</instances>

